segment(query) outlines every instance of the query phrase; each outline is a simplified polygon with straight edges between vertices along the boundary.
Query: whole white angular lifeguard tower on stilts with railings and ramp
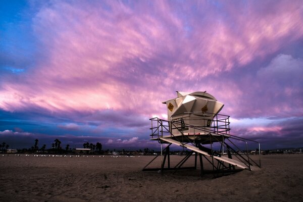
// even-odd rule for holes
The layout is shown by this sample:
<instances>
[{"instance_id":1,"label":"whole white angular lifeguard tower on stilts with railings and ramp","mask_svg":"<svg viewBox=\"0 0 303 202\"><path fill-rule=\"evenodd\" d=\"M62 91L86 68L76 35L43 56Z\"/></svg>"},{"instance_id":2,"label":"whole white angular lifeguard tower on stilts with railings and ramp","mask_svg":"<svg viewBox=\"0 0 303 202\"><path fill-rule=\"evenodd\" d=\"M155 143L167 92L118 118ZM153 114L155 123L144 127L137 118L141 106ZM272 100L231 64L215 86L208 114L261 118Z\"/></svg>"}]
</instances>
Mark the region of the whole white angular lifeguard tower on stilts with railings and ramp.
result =
<instances>
[{"instance_id":1,"label":"whole white angular lifeguard tower on stilts with railings and ramp","mask_svg":"<svg viewBox=\"0 0 303 202\"><path fill-rule=\"evenodd\" d=\"M230 134L229 116L219 114L224 104L218 102L213 95L206 91L192 93L177 91L176 98L169 99L163 104L167 106L168 120L150 119L150 140L156 140L161 144L161 157L164 152L162 165L161 168L147 168L158 157L156 156L143 168L143 171L160 169L162 172L174 169L176 172L179 169L196 169L197 155L199 155L201 175L204 174L203 157L212 165L213 173L217 176L220 173L251 170L254 165L261 167L260 143ZM243 145L239 146L239 142ZM259 146L258 163L249 157L248 143ZM168 145L163 149L163 144ZM189 150L184 159L173 168L170 166L172 144ZM182 167L193 154L195 165ZM166 160L167 167L165 167Z\"/></svg>"}]
</instances>

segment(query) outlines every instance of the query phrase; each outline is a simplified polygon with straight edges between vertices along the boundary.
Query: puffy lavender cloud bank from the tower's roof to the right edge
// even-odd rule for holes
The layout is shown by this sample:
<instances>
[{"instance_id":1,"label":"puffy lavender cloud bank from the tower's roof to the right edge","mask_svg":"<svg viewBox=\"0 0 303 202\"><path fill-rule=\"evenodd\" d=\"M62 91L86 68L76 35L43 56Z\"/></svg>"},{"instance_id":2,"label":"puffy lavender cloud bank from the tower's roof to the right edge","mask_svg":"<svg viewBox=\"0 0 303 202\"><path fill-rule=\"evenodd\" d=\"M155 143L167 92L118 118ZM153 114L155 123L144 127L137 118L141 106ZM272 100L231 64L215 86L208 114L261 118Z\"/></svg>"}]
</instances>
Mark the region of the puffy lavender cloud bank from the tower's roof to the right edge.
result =
<instances>
[{"instance_id":1,"label":"puffy lavender cloud bank from the tower's roof to the right edge","mask_svg":"<svg viewBox=\"0 0 303 202\"><path fill-rule=\"evenodd\" d=\"M303 111L302 58L279 54L268 64L233 73L235 80L218 82L222 113L233 118L301 117Z\"/></svg>"}]
</instances>

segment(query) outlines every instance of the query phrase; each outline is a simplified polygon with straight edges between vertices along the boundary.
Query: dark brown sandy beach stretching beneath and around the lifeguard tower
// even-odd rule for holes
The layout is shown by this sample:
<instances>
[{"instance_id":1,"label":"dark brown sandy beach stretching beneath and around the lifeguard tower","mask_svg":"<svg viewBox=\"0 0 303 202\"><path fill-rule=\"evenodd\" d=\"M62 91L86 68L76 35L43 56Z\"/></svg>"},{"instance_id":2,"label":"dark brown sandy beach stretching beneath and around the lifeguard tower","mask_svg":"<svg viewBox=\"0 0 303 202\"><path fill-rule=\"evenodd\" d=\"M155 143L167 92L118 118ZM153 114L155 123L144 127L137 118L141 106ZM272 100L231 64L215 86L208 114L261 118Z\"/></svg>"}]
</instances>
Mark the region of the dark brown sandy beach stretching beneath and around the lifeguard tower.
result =
<instances>
[{"instance_id":1,"label":"dark brown sandy beach stretching beneath and around the lifeguard tower","mask_svg":"<svg viewBox=\"0 0 303 202\"><path fill-rule=\"evenodd\" d=\"M153 158L1 155L0 201L303 201L302 154L262 156L261 169L220 178L142 172Z\"/></svg>"}]
</instances>

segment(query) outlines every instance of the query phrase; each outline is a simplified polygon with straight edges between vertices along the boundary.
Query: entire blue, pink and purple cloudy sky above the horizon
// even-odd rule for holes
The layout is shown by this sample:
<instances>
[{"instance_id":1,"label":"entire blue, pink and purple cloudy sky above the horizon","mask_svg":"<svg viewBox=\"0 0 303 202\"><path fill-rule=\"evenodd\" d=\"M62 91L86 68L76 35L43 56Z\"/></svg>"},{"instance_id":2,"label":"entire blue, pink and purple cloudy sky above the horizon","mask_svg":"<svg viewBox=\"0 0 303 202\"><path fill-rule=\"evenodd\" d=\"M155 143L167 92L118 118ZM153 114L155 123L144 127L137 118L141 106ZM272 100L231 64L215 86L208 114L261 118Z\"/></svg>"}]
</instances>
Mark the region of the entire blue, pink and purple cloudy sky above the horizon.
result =
<instances>
[{"instance_id":1,"label":"entire blue, pink and purple cloudy sky above the horizon","mask_svg":"<svg viewBox=\"0 0 303 202\"><path fill-rule=\"evenodd\" d=\"M0 1L0 142L159 148L150 118L206 91L233 135L303 146L302 1Z\"/></svg>"}]
</instances>

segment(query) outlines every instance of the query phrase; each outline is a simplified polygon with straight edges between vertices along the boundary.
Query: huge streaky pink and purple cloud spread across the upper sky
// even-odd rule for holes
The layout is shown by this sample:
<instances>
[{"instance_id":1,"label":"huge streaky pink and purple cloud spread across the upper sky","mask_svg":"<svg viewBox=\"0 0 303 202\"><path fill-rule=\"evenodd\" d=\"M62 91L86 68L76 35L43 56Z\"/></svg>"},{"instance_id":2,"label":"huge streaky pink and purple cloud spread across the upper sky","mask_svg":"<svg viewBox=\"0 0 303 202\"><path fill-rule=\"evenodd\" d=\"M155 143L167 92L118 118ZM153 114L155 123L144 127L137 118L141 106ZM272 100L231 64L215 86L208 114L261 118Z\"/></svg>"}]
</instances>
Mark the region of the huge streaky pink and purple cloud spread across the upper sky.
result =
<instances>
[{"instance_id":1,"label":"huge streaky pink and purple cloud spread across the upper sky","mask_svg":"<svg viewBox=\"0 0 303 202\"><path fill-rule=\"evenodd\" d=\"M60 113L129 110L151 116L165 113L161 102L175 96L174 90L206 88L234 100L229 113L240 114L239 106L244 106L260 115L271 106L260 111L256 110L260 103L247 107L239 101L245 92L237 81L201 83L207 76L264 59L286 42L303 36L299 1L261 6L248 2L245 7L221 3L225 15L207 3L193 5L194 12L190 5L167 2L151 6L140 2L133 7L113 1L82 3L53 2L39 10L33 19L41 51L36 67L20 82L3 85L1 109L18 111L36 106ZM260 11L263 6L270 9ZM273 72L282 76L282 69L274 67L276 63L300 61L289 57L279 55L272 66L259 71L258 78L268 78ZM288 69L287 75L300 75L298 67ZM274 81L273 86L280 87L278 83ZM284 91L299 93L291 86ZM297 99L295 102L302 106Z\"/></svg>"}]
</instances>

